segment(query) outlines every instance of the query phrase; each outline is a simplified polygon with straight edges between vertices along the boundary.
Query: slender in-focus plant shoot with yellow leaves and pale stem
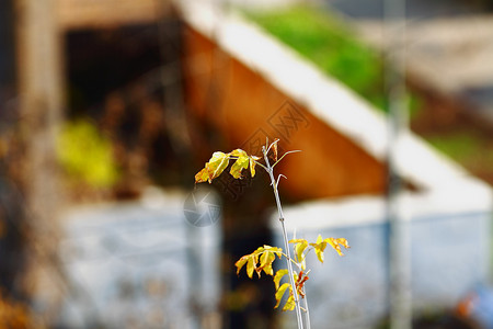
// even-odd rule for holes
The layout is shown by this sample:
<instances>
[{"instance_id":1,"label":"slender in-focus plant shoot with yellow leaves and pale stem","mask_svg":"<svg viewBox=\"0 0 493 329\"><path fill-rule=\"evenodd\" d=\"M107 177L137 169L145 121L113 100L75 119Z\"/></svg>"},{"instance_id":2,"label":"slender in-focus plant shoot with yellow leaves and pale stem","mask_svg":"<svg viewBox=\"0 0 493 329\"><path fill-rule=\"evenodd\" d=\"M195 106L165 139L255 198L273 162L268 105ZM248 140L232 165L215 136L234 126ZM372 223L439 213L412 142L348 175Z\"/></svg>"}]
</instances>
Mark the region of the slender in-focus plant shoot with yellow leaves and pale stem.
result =
<instances>
[{"instance_id":1,"label":"slender in-focus plant shoot with yellow leaves and pale stem","mask_svg":"<svg viewBox=\"0 0 493 329\"><path fill-rule=\"evenodd\" d=\"M253 178L255 175L255 167L260 166L263 168L270 179L271 185L273 188L274 197L276 201L277 212L279 216L279 223L284 239L284 250L278 247L272 247L264 245L259 247L255 251L250 254L245 254L241 257L234 265L237 266L237 274L240 273L240 270L246 265L246 275L252 279L253 273L255 272L259 277L262 272L266 275L273 276L274 285L275 285L275 299L276 305L274 308L280 306L282 299L286 292L288 292L288 296L284 302L283 310L296 310L296 318L298 321L298 329L310 329L310 316L308 310L308 302L307 302L307 293L305 291L305 283L309 280L309 270L306 269L306 257L310 250L314 250L317 258L320 262L323 263L323 251L325 247L331 246L339 256L343 256L342 248L349 248L347 240L344 238L326 238L323 239L320 235L317 238L316 242L308 242L306 239L291 239L288 240L286 226L285 226L285 217L283 213L283 206L280 204L278 184L282 177L286 178L283 174L277 177L277 180L274 175L274 167L279 163L280 160L288 154L297 152L297 151L287 151L280 158L277 155L277 143L278 139L274 140L272 144L266 144L262 147L262 155L264 163L260 162L261 157L248 155L242 149L236 149L229 154L225 154L221 151L216 151L213 154L210 160L205 164L204 169L202 169L195 175L195 182L213 182L213 180L219 177L222 171L228 167L230 160L234 160L233 164L229 173L234 179L242 179L242 171L248 170L250 168L250 174ZM271 159L273 159L273 164L271 164ZM291 250L289 245L293 245L294 256L291 258ZM276 258L286 259L287 269L280 269L274 273L273 263ZM294 270L296 268L296 271ZM287 282L286 275L288 276ZM303 299L303 305L301 306L300 299Z\"/></svg>"}]
</instances>

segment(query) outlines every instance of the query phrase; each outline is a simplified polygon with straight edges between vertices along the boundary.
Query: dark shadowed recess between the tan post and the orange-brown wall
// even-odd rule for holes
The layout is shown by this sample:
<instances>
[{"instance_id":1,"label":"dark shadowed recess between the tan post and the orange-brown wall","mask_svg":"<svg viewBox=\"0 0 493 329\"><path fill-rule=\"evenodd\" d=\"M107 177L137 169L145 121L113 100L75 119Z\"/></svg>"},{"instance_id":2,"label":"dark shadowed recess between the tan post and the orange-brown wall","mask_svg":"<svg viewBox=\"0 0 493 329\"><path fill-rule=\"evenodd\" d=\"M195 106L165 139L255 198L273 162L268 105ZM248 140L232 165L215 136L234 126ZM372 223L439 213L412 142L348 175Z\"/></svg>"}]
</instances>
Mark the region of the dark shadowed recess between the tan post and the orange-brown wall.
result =
<instances>
[{"instance_id":1,"label":"dark shadowed recess between the tan post and the orange-brown wall","mask_svg":"<svg viewBox=\"0 0 493 329\"><path fill-rule=\"evenodd\" d=\"M180 183L180 162L165 132L161 66L168 63L158 25L70 32L66 45L68 117L89 117L111 138L130 181L116 196L135 196L148 174Z\"/></svg>"}]
</instances>

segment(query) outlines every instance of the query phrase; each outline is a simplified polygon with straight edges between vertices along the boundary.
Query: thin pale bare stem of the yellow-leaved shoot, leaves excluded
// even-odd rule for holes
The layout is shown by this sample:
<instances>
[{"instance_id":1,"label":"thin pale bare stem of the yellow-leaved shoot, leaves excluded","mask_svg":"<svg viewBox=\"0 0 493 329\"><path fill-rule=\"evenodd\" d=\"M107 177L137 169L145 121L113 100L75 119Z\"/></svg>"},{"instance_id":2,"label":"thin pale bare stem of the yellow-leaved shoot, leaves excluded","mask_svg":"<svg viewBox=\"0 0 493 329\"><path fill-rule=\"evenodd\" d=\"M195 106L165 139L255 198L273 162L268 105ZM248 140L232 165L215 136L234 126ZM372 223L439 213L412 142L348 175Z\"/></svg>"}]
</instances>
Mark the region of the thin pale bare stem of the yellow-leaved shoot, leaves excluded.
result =
<instances>
[{"instance_id":1,"label":"thin pale bare stem of the yellow-leaved shoot, leaves excluded","mask_svg":"<svg viewBox=\"0 0 493 329\"><path fill-rule=\"evenodd\" d=\"M271 183L272 183L272 188L274 190L274 196L276 198L277 212L279 214L279 222L280 222L280 226L283 228L284 247L286 249L286 256L287 256L286 262L287 262L287 268L288 268L288 272L289 272L289 282L290 282L291 288L293 288L293 297L295 299L295 308L296 308L296 318L298 320L298 329L303 329L303 320L301 317L301 307L299 305L298 293L296 292L295 274L294 274L293 265L291 265L291 253L289 250L289 242L288 242L288 237L287 237L287 232L286 232L286 226L284 225L284 214L283 214L283 206L280 205L279 192L277 191L277 183L274 178L274 170L273 170L273 167L271 167L271 162L268 161L267 150L265 149L265 147L262 147L262 152L264 154L265 164L267 167L268 175L271 177Z\"/></svg>"}]
</instances>

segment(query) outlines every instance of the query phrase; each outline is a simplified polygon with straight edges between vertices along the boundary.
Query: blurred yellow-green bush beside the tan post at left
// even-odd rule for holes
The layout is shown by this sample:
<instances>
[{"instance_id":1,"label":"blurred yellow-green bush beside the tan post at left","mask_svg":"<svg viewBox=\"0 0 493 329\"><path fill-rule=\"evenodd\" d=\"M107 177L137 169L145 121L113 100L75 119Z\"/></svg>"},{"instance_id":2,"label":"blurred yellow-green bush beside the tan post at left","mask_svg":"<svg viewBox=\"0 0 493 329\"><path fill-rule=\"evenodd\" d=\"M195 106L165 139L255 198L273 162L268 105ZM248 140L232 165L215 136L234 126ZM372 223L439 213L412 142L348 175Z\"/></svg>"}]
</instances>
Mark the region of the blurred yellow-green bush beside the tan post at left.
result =
<instances>
[{"instance_id":1,"label":"blurred yellow-green bush beside the tan post at left","mask_svg":"<svg viewBox=\"0 0 493 329\"><path fill-rule=\"evenodd\" d=\"M67 123L57 138L57 156L70 180L108 188L118 179L111 141L88 121Z\"/></svg>"}]
</instances>

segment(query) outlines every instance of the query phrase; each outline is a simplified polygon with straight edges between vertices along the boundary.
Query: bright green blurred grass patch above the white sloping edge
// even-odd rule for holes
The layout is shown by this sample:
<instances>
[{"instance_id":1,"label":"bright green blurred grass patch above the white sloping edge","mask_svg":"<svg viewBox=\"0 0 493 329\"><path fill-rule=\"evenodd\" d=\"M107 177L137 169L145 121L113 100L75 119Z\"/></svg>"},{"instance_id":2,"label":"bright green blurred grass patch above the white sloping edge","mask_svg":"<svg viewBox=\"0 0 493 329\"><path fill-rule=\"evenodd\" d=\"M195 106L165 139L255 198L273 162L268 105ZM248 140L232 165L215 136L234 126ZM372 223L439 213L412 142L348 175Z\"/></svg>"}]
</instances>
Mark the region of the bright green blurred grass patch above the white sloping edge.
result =
<instances>
[{"instance_id":1,"label":"bright green blurred grass patch above the white sloping edge","mask_svg":"<svg viewBox=\"0 0 493 329\"><path fill-rule=\"evenodd\" d=\"M245 14L279 41L336 78L376 107L387 111L381 54L358 39L354 31L328 10L294 5ZM409 95L411 112L419 97Z\"/></svg>"}]
</instances>

